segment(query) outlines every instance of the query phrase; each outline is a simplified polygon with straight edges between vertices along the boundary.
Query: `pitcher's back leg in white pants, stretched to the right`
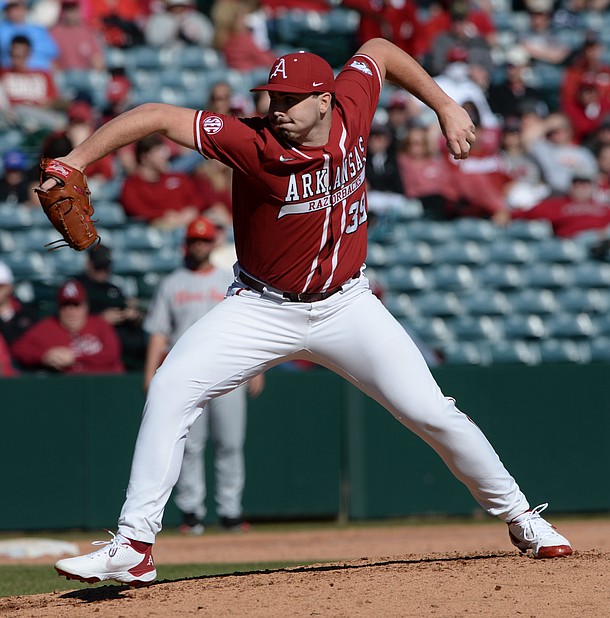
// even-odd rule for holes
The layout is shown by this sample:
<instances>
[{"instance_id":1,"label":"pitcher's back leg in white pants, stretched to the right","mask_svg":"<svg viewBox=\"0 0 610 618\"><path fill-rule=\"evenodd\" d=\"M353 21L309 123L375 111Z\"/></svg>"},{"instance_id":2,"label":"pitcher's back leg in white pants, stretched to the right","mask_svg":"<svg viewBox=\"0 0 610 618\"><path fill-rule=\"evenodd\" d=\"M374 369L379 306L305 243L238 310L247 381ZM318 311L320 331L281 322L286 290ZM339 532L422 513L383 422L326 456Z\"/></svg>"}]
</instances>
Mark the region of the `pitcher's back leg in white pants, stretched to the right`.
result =
<instances>
[{"instance_id":1,"label":"pitcher's back leg in white pants, stretched to the right","mask_svg":"<svg viewBox=\"0 0 610 618\"><path fill-rule=\"evenodd\" d=\"M423 438L490 514L510 521L527 510L525 496L487 438L443 395L421 353L381 302L361 293L351 304L340 304L309 340L312 352L325 359L320 362Z\"/></svg>"}]
</instances>

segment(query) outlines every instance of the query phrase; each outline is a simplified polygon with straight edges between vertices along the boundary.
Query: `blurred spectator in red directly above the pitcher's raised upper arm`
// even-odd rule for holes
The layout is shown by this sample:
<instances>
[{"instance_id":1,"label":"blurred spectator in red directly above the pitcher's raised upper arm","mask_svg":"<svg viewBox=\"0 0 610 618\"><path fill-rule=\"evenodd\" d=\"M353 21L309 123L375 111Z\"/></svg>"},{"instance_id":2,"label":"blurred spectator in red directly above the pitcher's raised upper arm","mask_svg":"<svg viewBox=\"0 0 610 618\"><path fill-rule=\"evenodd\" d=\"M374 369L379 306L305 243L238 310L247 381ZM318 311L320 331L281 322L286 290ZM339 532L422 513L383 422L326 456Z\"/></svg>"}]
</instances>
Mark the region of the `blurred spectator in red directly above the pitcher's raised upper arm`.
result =
<instances>
[{"instance_id":1,"label":"blurred spectator in red directly above the pitcher's raised upper arm","mask_svg":"<svg viewBox=\"0 0 610 618\"><path fill-rule=\"evenodd\" d=\"M420 24L417 3L412 0L343 0L342 6L360 14L358 43L381 37L418 58ZM355 50L354 50L355 51Z\"/></svg>"}]
</instances>

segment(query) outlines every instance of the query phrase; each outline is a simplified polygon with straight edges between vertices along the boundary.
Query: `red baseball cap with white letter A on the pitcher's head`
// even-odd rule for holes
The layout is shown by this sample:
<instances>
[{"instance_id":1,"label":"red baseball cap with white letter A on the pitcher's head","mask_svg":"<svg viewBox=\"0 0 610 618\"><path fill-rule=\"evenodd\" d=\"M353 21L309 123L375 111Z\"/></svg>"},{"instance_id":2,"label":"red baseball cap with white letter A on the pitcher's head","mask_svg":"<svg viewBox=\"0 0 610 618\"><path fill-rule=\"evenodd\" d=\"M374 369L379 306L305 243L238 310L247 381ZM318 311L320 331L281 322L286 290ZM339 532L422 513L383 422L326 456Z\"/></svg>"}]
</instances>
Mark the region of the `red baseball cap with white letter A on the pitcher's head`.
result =
<instances>
[{"instance_id":1,"label":"red baseball cap with white letter A on the pitcher's head","mask_svg":"<svg viewBox=\"0 0 610 618\"><path fill-rule=\"evenodd\" d=\"M278 58L271 71L268 83L252 88L250 92L335 92L333 70L320 56L300 51Z\"/></svg>"}]
</instances>

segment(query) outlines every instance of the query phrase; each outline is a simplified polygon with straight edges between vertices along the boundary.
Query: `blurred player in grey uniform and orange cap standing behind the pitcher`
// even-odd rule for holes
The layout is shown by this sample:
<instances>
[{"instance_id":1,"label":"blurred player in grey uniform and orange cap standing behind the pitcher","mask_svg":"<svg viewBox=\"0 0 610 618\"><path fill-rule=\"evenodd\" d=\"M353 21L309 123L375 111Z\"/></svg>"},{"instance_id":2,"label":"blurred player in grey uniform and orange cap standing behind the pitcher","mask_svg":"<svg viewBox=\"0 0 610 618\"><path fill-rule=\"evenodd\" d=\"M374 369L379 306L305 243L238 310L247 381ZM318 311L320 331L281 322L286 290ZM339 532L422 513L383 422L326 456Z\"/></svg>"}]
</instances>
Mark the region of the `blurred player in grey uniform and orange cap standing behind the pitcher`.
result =
<instances>
[{"instance_id":1,"label":"blurred player in grey uniform and orange cap standing behind the pitcher","mask_svg":"<svg viewBox=\"0 0 610 618\"><path fill-rule=\"evenodd\" d=\"M169 274L155 292L144 320L144 330L149 334L144 364L147 390L168 350L225 297L233 274L210 262L217 238L216 226L209 219L194 219L186 228L184 266ZM203 533L206 514L203 455L208 433L214 443L215 499L220 526L231 531L247 529L241 504L245 482L246 391L256 397L263 385L264 377L260 374L247 386L213 399L191 426L174 491L174 501L182 513L181 532Z\"/></svg>"}]
</instances>

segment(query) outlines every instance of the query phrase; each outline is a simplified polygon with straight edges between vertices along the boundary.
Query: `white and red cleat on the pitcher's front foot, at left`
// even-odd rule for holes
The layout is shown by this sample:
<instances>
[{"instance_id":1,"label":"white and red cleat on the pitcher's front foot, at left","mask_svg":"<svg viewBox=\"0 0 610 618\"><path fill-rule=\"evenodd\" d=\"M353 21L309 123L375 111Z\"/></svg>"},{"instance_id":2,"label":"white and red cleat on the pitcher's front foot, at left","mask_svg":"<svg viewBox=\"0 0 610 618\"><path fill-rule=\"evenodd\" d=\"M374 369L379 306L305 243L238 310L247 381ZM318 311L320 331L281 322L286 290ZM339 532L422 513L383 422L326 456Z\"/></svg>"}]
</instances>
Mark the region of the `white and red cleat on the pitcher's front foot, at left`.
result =
<instances>
[{"instance_id":1,"label":"white and red cleat on the pitcher's front foot, at left","mask_svg":"<svg viewBox=\"0 0 610 618\"><path fill-rule=\"evenodd\" d=\"M112 532L110 533L112 534ZM112 534L111 541L94 541L101 549L76 558L64 558L55 563L58 575L66 579L95 584L113 579L130 586L146 586L157 577L152 557L152 545L141 553L124 536Z\"/></svg>"}]
</instances>

